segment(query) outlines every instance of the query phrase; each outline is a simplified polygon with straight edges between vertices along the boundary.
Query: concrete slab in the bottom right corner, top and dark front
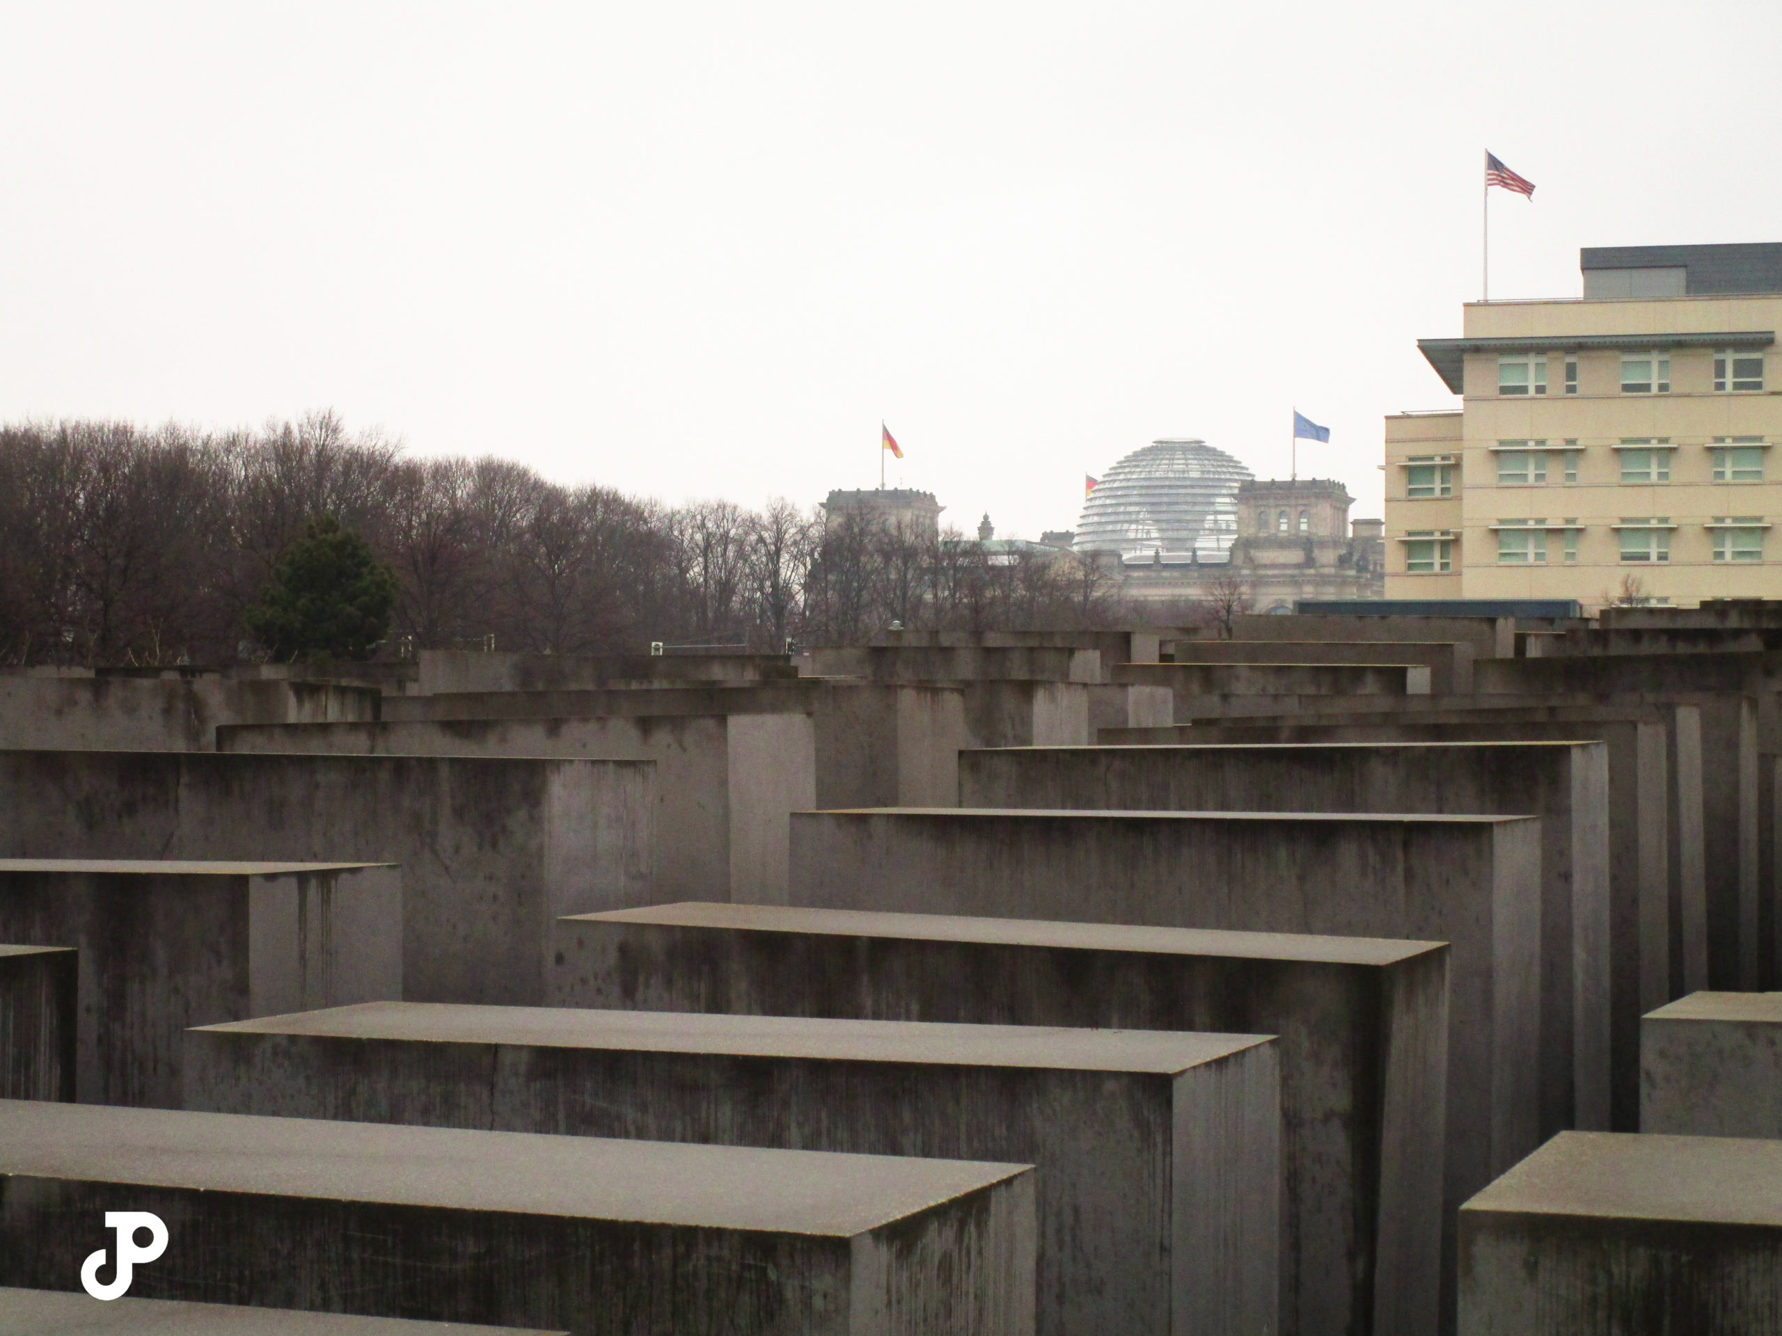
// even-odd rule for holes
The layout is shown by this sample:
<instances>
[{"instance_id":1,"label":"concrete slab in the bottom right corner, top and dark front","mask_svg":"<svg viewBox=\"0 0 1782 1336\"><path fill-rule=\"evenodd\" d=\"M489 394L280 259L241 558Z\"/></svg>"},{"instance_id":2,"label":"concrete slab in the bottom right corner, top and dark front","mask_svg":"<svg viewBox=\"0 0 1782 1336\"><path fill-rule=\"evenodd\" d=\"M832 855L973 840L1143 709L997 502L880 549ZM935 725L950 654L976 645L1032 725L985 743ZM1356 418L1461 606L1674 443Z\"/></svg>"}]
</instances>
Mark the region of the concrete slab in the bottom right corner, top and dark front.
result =
<instances>
[{"instance_id":1,"label":"concrete slab in the bottom right corner, top and dark front","mask_svg":"<svg viewBox=\"0 0 1782 1336\"><path fill-rule=\"evenodd\" d=\"M1561 1133L1459 1213L1461 1336L1782 1332L1782 1142Z\"/></svg>"}]
</instances>

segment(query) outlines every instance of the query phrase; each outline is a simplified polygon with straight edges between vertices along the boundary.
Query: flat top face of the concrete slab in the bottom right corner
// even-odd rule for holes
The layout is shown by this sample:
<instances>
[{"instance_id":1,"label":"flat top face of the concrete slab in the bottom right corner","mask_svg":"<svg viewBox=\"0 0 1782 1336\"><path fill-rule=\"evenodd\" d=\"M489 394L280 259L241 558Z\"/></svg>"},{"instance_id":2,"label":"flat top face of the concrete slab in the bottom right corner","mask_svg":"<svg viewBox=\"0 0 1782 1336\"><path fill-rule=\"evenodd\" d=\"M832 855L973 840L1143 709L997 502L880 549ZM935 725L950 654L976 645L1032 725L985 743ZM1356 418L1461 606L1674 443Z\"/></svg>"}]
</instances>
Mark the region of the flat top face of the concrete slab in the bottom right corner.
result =
<instances>
[{"instance_id":1,"label":"flat top face of the concrete slab in the bottom right corner","mask_svg":"<svg viewBox=\"0 0 1782 1336\"><path fill-rule=\"evenodd\" d=\"M1461 1211L1782 1226L1782 1142L1563 1131Z\"/></svg>"}]
</instances>

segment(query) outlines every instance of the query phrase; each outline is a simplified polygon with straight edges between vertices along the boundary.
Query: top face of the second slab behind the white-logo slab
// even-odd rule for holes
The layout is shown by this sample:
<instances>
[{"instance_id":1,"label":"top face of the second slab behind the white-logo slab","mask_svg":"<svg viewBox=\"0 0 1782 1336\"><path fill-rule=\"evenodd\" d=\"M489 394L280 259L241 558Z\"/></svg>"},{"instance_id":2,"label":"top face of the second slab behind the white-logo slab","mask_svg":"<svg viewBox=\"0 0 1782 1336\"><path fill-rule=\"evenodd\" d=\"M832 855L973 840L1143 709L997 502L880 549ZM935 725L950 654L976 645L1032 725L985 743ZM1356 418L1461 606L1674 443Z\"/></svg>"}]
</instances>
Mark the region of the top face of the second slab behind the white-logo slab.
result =
<instances>
[{"instance_id":1,"label":"top face of the second slab behind the white-logo slab","mask_svg":"<svg viewBox=\"0 0 1782 1336\"><path fill-rule=\"evenodd\" d=\"M683 900L674 905L572 914L560 923L638 923L665 928L788 932L813 937L891 937L918 942L982 942L1071 951L1132 951L1231 960L1299 960L1329 965L1392 965L1445 942L1397 937L1319 937L1292 932L1228 932L1222 928L1151 928L1128 923L1057 923L1048 919L984 919L960 914L895 914L861 908L797 908L789 905L720 905Z\"/></svg>"}]
</instances>

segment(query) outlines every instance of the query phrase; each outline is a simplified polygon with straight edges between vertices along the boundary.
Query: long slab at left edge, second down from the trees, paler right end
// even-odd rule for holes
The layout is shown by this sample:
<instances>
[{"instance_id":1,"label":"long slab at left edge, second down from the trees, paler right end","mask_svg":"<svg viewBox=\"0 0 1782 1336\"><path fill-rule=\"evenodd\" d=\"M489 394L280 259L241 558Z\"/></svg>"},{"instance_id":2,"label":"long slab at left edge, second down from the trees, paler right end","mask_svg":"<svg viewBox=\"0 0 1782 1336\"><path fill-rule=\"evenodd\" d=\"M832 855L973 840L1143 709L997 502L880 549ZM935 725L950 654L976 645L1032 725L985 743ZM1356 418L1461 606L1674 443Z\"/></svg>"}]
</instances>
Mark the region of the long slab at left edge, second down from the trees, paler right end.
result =
<instances>
[{"instance_id":1,"label":"long slab at left edge, second down from the trees, paler right end","mask_svg":"<svg viewBox=\"0 0 1782 1336\"><path fill-rule=\"evenodd\" d=\"M649 901L652 770L0 752L0 857L396 862L408 998L540 1003L560 914Z\"/></svg>"}]
</instances>

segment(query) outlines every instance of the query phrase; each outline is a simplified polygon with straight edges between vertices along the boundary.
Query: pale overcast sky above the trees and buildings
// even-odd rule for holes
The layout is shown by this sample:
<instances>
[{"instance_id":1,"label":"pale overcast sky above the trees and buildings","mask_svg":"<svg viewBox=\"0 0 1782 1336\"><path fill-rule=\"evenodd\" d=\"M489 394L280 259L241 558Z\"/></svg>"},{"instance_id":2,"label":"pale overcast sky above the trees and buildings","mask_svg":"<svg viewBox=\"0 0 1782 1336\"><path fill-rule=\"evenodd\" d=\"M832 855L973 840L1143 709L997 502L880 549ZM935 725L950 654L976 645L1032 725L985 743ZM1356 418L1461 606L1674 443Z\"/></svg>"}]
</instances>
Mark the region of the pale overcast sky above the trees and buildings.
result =
<instances>
[{"instance_id":1,"label":"pale overcast sky above the trees and buildings","mask_svg":"<svg viewBox=\"0 0 1782 1336\"><path fill-rule=\"evenodd\" d=\"M1071 527L1381 415L1577 248L1782 239L1782 5L0 0L0 419L333 406L684 501ZM1764 148L1764 144L1771 144Z\"/></svg>"}]
</instances>

